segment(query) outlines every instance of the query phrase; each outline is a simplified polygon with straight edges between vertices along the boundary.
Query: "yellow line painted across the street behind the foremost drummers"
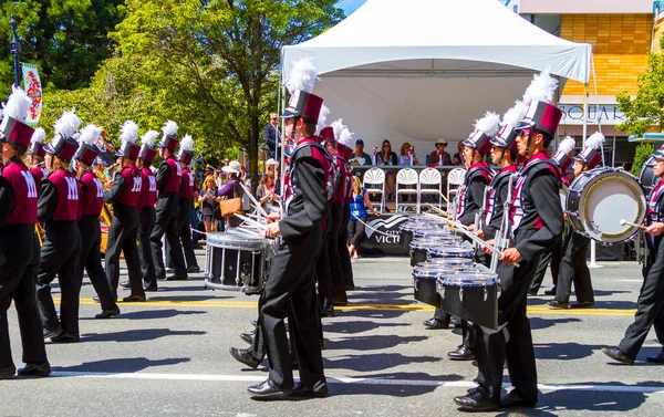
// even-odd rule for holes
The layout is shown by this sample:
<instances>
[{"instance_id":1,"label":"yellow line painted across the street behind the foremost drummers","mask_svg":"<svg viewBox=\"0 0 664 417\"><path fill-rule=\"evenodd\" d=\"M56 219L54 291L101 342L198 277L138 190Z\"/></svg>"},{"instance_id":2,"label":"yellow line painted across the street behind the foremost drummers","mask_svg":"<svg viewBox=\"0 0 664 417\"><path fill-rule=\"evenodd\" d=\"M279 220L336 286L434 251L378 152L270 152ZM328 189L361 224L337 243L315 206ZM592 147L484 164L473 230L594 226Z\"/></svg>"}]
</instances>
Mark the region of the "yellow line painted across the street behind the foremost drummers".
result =
<instances>
[{"instance_id":1,"label":"yellow line painted across the street behind the foremost drummers","mask_svg":"<svg viewBox=\"0 0 664 417\"><path fill-rule=\"evenodd\" d=\"M53 299L60 303L60 299ZM81 299L82 305L98 305L92 299ZM126 306L159 306L159 307L210 307L210 309L258 309L258 301L221 301L221 300L154 300L144 303L123 303ZM402 311L402 312L433 312L434 307L425 304L373 304L373 303L350 303L346 306L336 306L340 311ZM633 316L636 310L618 309L561 309L554 310L546 306L530 306L528 314L531 315L610 315L610 316Z\"/></svg>"}]
</instances>

